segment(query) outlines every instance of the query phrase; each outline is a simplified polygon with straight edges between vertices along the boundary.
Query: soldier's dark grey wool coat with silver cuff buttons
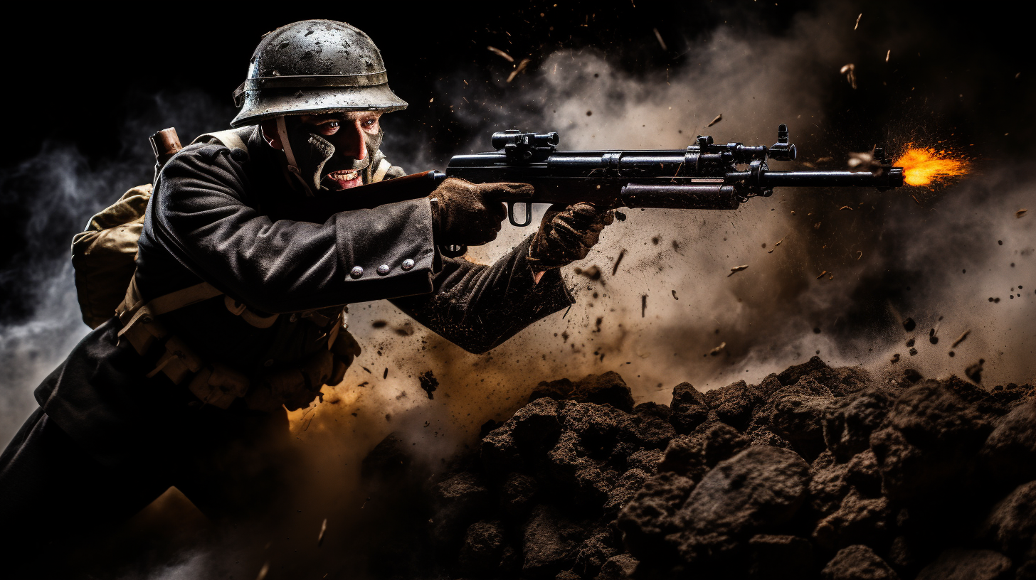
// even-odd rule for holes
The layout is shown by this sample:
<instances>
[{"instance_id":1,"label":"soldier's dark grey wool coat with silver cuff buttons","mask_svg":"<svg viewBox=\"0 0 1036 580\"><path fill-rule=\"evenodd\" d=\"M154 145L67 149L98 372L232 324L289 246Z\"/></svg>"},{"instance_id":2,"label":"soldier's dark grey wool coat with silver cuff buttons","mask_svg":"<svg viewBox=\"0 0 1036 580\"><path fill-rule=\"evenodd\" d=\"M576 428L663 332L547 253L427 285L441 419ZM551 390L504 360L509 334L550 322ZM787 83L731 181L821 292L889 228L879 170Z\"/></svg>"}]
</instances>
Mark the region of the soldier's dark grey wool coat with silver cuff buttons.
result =
<instances>
[{"instance_id":1,"label":"soldier's dark grey wool coat with silver cuff buttons","mask_svg":"<svg viewBox=\"0 0 1036 580\"><path fill-rule=\"evenodd\" d=\"M248 152L199 143L163 168L140 238L138 288L150 299L205 281L259 314L323 316L285 315L257 328L224 296L163 315L205 358L246 373L300 360L326 349L326 321L343 306L375 299L485 352L572 302L557 270L534 283L528 238L491 266L442 257L426 199L336 213L323 224L278 220L271 208L303 194L257 126L237 135ZM376 152L372 168L380 158ZM387 177L402 174L394 167ZM404 260L413 266L404 269ZM387 273L378 272L382 264ZM145 378L156 355L118 345L119 328L112 319L90 332L36 389L42 412L104 463L146 453L156 438L175 440L190 402L185 387L162 374Z\"/></svg>"}]
</instances>

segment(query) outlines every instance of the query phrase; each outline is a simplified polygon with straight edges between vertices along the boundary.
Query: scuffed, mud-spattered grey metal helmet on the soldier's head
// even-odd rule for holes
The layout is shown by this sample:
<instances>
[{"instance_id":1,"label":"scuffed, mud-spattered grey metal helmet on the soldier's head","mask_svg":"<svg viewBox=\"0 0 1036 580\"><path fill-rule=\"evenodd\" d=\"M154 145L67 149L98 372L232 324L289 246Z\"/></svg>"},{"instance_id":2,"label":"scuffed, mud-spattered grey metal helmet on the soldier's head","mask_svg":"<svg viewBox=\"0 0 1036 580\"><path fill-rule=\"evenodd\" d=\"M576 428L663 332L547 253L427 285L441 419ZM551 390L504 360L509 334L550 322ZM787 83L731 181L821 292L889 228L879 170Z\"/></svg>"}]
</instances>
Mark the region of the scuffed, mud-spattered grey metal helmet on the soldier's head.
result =
<instances>
[{"instance_id":1,"label":"scuffed, mud-spattered grey metal helmet on the soldier's head","mask_svg":"<svg viewBox=\"0 0 1036 580\"><path fill-rule=\"evenodd\" d=\"M381 53L344 22L305 20L267 33L234 91L239 127L282 115L336 111L399 111L406 102L388 88Z\"/></svg>"}]
</instances>

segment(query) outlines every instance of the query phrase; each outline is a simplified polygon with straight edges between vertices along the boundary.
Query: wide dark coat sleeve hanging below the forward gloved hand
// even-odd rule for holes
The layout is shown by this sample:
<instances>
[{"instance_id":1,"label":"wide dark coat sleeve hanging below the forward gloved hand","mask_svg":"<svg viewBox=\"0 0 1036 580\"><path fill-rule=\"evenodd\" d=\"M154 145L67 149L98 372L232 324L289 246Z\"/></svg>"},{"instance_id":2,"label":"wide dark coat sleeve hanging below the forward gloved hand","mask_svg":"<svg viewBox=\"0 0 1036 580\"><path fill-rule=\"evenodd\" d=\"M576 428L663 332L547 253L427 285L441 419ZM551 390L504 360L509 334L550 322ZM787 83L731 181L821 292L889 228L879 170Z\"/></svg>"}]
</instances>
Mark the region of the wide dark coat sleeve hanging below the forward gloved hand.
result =
<instances>
[{"instance_id":1,"label":"wide dark coat sleeve hanging below the forward gloved hand","mask_svg":"<svg viewBox=\"0 0 1036 580\"><path fill-rule=\"evenodd\" d=\"M393 300L418 322L468 352L482 353L541 318L572 304L558 270L539 284L528 265L531 236L491 266L442 258L435 291Z\"/></svg>"}]
</instances>

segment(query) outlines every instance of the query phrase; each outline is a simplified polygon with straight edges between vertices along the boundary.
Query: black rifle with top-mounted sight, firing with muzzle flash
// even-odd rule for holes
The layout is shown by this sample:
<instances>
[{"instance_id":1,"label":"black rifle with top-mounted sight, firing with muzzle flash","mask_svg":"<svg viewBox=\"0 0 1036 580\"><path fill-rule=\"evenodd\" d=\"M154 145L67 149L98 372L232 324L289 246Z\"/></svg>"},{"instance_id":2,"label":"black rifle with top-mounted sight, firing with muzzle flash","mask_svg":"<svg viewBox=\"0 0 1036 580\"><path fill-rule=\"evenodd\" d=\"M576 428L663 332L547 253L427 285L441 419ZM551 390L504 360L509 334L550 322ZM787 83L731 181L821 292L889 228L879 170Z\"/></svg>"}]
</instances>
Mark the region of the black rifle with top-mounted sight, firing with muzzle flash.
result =
<instances>
[{"instance_id":1,"label":"black rifle with top-mounted sight, firing with muzzle flash","mask_svg":"<svg viewBox=\"0 0 1036 580\"><path fill-rule=\"evenodd\" d=\"M445 173L425 171L311 198L284 208L286 219L324 223L339 211L369 209L386 203L426 197L447 177L472 183L530 183L526 198L501 198L511 225L528 226L534 203L571 205L592 202L604 209L737 209L753 197L770 197L774 187L877 187L903 184L903 170L892 167L885 148L876 147L870 171L774 171L769 161L789 162L797 155L787 125L777 127L777 143L718 144L698 136L695 144L677 150L558 151L556 133L494 133L496 151L456 155ZM523 222L515 207L525 205ZM463 255L465 247L442 248L445 256Z\"/></svg>"}]
</instances>

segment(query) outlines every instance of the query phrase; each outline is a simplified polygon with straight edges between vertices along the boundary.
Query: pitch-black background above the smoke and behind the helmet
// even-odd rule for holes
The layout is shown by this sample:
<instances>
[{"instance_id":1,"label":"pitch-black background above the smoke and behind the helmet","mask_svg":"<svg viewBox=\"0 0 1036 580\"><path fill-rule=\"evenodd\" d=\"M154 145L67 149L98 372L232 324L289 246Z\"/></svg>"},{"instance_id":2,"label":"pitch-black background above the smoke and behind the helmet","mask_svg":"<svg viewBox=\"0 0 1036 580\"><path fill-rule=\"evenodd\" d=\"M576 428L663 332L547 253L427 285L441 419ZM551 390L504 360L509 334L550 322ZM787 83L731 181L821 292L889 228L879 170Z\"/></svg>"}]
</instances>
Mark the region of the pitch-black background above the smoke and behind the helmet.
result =
<instances>
[{"instance_id":1,"label":"pitch-black background above the smoke and behind the helmet","mask_svg":"<svg viewBox=\"0 0 1036 580\"><path fill-rule=\"evenodd\" d=\"M848 12L864 13L852 42L872 52L896 39L917 56L906 54L897 59L894 71L883 71L884 85L832 91L825 114L832 124L850 127L850 140L861 144L881 140L883 119L895 115L909 96L917 96L938 108L942 126L954 127L961 142L976 144L970 150L976 156L1012 160L1032 152L1032 33L1017 11L1000 3L959 8L947 3L858 4L846 4ZM243 80L253 49L261 34L278 26L326 18L367 32L382 52L393 89L411 104L391 116L386 130L431 126L433 156L448 156L470 136L464 127L441 120L448 117L443 99L429 99L443 77L460 69L498 77L499 57L486 50L489 45L530 55L534 66L537 59L559 48L589 49L635 75L649 74L680 66L684 53L694 42L706 41L721 24L749 35L781 35L797 15L814 11L819 4L388 0L319 7L301 2L237 6L139 4L116 9L93 4L89 9L58 10L40 4L28 8L35 13L8 20L0 38L6 57L5 138L0 140L4 222L0 320L31 314L20 274L28 259L28 198L45 195L9 178L16 168L55 144L74 145L91 166L125 156L127 148L139 150L141 143L127 142L127 119L139 122L146 117L159 93L182 94L189 89L207 93L225 104L229 120L230 94ZM848 34L851 23L845 26ZM666 50L654 29L666 39ZM858 72L870 74L866 68ZM832 75L831 83L844 79ZM501 102L506 88L499 88ZM958 97L960 93L967 94ZM782 87L774 87L770 97L781 98ZM141 175L146 171L142 169ZM67 253L68 237L81 225L66 227L69 231L55 231L52 240L37 240L41 250L32 259L39 259L40 253L45 257Z\"/></svg>"}]
</instances>

